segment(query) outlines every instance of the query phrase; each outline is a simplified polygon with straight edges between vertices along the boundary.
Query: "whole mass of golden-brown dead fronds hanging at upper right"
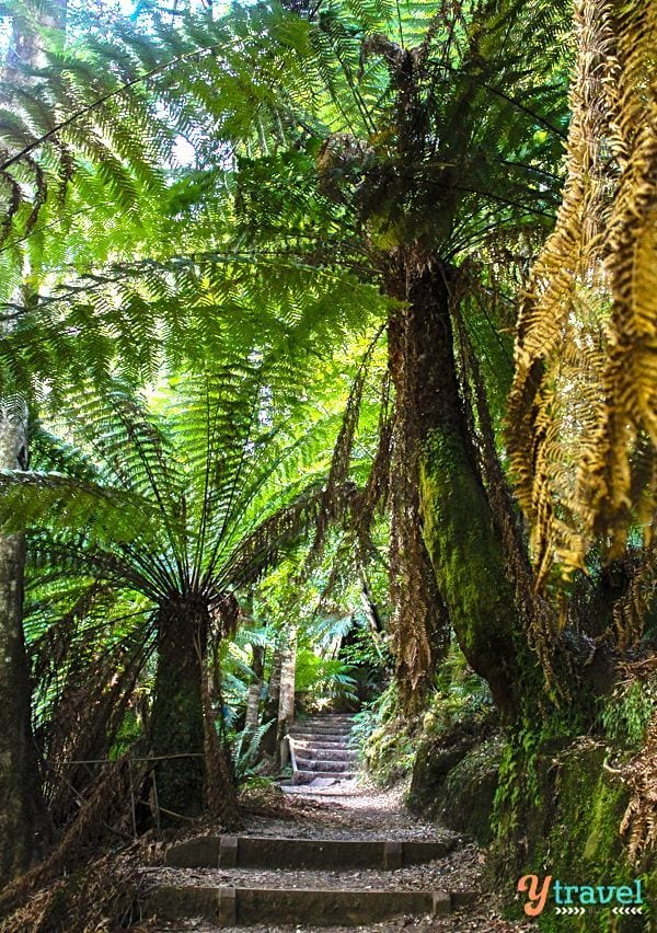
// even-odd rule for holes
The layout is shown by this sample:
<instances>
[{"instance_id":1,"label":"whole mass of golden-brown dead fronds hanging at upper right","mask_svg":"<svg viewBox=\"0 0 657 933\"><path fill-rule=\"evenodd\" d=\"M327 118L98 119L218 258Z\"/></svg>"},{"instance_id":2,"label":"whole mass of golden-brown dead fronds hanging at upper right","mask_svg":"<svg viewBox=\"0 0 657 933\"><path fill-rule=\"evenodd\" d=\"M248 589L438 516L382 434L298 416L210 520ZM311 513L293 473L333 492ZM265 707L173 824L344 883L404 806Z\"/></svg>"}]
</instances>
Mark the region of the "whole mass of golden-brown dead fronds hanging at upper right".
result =
<instances>
[{"instance_id":1,"label":"whole mass of golden-brown dead fronds hanging at upper right","mask_svg":"<svg viewBox=\"0 0 657 933\"><path fill-rule=\"evenodd\" d=\"M567 181L522 302L510 395L538 586L555 561L583 568L596 537L621 553L656 503L657 7L579 0L575 26Z\"/></svg>"}]
</instances>

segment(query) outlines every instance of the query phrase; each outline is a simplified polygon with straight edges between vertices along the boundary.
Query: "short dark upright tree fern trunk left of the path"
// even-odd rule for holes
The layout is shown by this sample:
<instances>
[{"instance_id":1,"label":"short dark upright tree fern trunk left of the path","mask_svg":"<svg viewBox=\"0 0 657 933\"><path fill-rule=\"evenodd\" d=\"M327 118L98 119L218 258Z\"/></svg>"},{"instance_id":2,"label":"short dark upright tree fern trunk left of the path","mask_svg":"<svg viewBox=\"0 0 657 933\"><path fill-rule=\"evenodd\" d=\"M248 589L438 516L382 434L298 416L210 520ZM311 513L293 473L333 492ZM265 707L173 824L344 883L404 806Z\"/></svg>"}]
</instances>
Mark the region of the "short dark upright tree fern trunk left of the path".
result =
<instances>
[{"instance_id":1,"label":"short dark upright tree fern trunk left of the path","mask_svg":"<svg viewBox=\"0 0 657 933\"><path fill-rule=\"evenodd\" d=\"M151 716L158 804L191 817L205 808L201 678L207 629L203 608L181 603L160 610Z\"/></svg>"}]
</instances>

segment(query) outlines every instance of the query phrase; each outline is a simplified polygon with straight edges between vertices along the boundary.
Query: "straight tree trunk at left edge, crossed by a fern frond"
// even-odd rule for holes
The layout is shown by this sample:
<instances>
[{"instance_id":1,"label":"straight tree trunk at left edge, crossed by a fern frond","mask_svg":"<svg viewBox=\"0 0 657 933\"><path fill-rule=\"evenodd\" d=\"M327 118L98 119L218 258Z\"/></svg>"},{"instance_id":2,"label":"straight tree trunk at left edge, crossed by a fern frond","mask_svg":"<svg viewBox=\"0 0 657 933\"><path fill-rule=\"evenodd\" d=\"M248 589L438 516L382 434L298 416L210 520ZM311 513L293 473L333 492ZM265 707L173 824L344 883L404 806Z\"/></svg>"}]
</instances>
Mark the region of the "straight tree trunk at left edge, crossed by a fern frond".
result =
<instances>
[{"instance_id":1,"label":"straight tree trunk at left edge, crossed by a fern frond","mask_svg":"<svg viewBox=\"0 0 657 933\"><path fill-rule=\"evenodd\" d=\"M0 407L0 468L27 463L27 406ZM48 821L31 724L31 682L23 636L23 535L0 537L0 883L43 853Z\"/></svg>"}]
</instances>

